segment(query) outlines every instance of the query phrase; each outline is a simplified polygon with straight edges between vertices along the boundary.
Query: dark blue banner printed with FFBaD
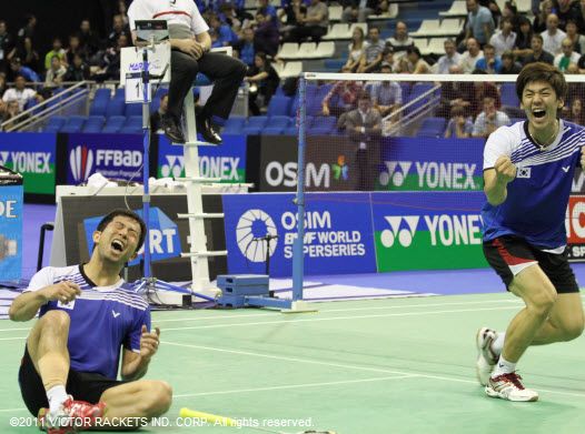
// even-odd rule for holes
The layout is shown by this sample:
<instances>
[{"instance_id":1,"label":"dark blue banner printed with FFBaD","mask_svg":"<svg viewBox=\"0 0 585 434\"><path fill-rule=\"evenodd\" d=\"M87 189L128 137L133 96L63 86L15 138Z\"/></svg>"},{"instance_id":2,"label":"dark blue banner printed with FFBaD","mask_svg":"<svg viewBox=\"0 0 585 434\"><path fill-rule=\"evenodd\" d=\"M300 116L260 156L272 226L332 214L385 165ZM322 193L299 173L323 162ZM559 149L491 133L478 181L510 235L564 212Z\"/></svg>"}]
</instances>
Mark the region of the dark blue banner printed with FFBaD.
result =
<instances>
[{"instance_id":1,"label":"dark blue banner printed with FFBaD","mask_svg":"<svg viewBox=\"0 0 585 434\"><path fill-rule=\"evenodd\" d=\"M110 180L140 182L142 154L141 134L69 134L67 183L80 184L96 172Z\"/></svg>"}]
</instances>

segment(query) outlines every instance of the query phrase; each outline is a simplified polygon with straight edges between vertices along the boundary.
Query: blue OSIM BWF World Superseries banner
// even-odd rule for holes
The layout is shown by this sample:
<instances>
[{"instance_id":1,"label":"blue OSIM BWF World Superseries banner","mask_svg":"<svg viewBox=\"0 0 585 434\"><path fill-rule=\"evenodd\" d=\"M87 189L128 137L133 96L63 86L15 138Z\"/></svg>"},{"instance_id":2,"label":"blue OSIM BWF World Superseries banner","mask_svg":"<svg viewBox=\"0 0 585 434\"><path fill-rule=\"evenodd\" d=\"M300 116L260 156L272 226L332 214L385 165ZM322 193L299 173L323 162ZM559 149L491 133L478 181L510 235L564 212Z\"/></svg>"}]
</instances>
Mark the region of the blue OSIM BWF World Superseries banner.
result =
<instances>
[{"instance_id":1,"label":"blue OSIM BWF World Superseries banner","mask_svg":"<svg viewBox=\"0 0 585 434\"><path fill-rule=\"evenodd\" d=\"M297 206L292 193L226 194L229 273L264 273L267 234L270 274L292 273ZM376 258L368 193L306 194L305 273L374 273Z\"/></svg>"}]
</instances>

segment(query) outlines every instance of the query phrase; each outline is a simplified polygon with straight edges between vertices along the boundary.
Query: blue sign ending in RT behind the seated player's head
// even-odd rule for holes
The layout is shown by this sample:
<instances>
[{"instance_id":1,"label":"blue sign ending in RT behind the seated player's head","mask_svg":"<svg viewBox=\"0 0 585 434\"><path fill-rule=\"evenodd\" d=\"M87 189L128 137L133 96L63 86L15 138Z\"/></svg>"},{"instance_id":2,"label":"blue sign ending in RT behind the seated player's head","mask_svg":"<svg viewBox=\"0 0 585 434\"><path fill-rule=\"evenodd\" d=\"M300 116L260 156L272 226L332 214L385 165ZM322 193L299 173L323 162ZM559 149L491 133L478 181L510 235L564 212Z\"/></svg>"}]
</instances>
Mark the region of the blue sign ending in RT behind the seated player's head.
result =
<instances>
[{"instance_id":1,"label":"blue sign ending in RT behind the seated player's head","mask_svg":"<svg viewBox=\"0 0 585 434\"><path fill-rule=\"evenodd\" d=\"M150 241L150 259L151 261L160 261L168 258L177 258L181 254L181 241L179 238L179 230L177 224L170 220L167 214L159 208L151 208L149 210L149 241ZM142 216L142 210L135 210L135 212ZM103 215L85 219L83 226L86 229L86 240L88 245L88 253L91 256L93 249L93 231L97 230L98 224ZM138 251L136 260L129 262L129 265L137 265L140 262L145 248Z\"/></svg>"}]
</instances>

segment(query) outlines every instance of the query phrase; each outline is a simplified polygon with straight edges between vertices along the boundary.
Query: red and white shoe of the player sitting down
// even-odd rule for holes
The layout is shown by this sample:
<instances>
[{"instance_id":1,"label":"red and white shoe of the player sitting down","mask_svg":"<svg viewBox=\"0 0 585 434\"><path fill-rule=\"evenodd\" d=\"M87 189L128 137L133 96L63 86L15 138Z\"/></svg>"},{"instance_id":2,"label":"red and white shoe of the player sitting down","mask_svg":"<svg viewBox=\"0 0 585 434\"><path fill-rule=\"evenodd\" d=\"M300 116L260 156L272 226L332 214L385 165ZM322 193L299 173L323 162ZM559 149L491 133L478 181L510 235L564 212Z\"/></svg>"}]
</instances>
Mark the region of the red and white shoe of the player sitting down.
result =
<instances>
[{"instance_id":1,"label":"red and white shoe of the player sitting down","mask_svg":"<svg viewBox=\"0 0 585 434\"><path fill-rule=\"evenodd\" d=\"M85 401L73 401L69 395L57 415L49 408L39 410L37 421L42 431L49 434L70 434L93 426L96 420L103 416L106 404L90 404Z\"/></svg>"}]
</instances>

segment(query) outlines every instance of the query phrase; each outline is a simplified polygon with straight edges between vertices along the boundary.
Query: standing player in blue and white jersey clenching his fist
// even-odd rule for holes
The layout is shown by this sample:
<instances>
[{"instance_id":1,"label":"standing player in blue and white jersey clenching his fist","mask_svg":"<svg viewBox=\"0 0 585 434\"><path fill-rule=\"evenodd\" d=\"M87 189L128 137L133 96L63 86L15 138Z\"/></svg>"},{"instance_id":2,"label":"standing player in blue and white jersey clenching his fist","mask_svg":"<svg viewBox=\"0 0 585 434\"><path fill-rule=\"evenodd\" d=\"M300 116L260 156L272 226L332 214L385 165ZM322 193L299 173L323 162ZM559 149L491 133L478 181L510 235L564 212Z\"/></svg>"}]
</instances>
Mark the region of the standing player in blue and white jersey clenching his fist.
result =
<instances>
[{"instance_id":1,"label":"standing player in blue and white jersey clenching his fist","mask_svg":"<svg viewBox=\"0 0 585 434\"><path fill-rule=\"evenodd\" d=\"M566 256L565 212L585 130L564 122L567 83L546 63L516 80L526 121L497 129L484 150L484 253L524 307L506 332L478 331L477 377L488 396L537 401L516 364L529 345L571 341L583 332L579 289Z\"/></svg>"}]
</instances>

